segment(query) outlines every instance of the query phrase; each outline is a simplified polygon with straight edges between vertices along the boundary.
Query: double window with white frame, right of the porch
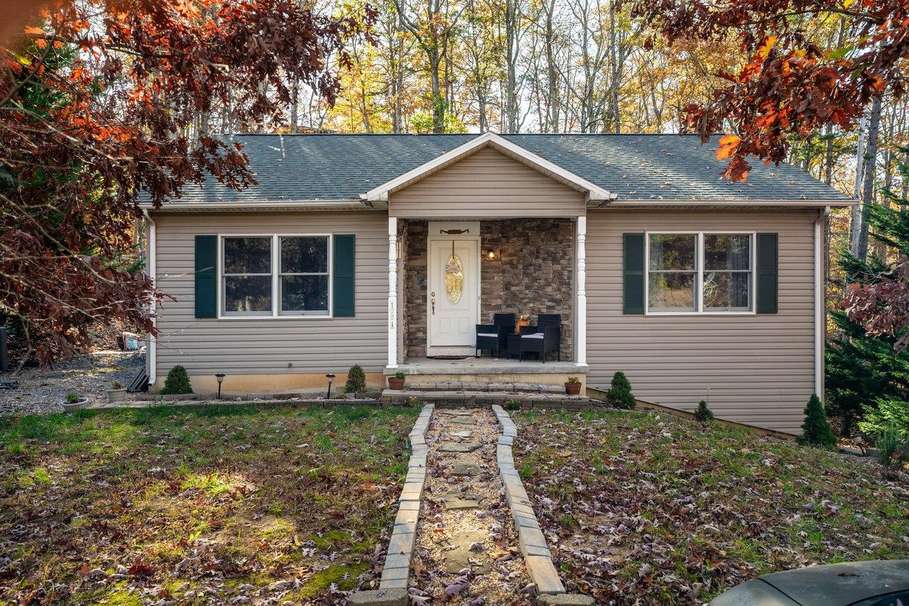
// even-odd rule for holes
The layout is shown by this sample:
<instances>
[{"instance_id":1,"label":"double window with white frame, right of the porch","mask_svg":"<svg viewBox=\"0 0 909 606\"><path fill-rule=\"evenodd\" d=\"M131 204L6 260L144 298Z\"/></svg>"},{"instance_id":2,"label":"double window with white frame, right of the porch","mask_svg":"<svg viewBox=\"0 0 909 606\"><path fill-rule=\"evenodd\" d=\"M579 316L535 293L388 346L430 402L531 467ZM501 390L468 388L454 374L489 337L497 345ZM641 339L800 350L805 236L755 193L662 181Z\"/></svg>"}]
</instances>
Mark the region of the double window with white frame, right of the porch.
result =
<instances>
[{"instance_id":1,"label":"double window with white frame, right of the porch","mask_svg":"<svg viewBox=\"0 0 909 606\"><path fill-rule=\"evenodd\" d=\"M648 234L648 313L750 313L752 234Z\"/></svg>"}]
</instances>

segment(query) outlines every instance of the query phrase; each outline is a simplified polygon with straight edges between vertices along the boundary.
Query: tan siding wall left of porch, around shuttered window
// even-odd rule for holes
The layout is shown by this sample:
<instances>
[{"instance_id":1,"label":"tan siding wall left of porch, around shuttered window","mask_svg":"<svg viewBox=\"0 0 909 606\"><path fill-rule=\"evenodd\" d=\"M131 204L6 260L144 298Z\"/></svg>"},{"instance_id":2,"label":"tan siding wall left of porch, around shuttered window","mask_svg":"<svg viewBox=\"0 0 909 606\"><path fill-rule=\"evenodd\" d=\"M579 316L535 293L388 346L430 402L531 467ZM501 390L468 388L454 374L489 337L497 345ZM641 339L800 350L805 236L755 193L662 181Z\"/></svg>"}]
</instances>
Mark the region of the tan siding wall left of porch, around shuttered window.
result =
<instances>
[{"instance_id":1,"label":"tan siding wall left of porch, around shuttered window","mask_svg":"<svg viewBox=\"0 0 909 606\"><path fill-rule=\"evenodd\" d=\"M177 298L165 299L158 313L159 379L175 364L190 375L341 373L354 364L366 372L385 368L385 213L181 213L158 214L155 223L157 286ZM354 318L195 318L196 234L323 233L356 235Z\"/></svg>"}]
</instances>

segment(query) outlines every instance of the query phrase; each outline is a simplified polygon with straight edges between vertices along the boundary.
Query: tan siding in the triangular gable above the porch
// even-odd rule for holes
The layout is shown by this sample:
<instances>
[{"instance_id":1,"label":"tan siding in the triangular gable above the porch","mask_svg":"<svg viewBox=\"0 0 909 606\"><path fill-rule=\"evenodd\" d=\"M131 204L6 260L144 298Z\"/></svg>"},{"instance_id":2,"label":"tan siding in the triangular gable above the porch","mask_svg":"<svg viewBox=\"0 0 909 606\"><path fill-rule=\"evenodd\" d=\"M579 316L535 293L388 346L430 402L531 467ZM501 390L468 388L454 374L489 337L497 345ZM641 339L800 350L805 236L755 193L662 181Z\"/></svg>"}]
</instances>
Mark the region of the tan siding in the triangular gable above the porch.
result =
<instances>
[{"instance_id":1,"label":"tan siding in the triangular gable above the porch","mask_svg":"<svg viewBox=\"0 0 909 606\"><path fill-rule=\"evenodd\" d=\"M584 194L484 148L393 192L388 206L402 218L578 217Z\"/></svg>"}]
</instances>

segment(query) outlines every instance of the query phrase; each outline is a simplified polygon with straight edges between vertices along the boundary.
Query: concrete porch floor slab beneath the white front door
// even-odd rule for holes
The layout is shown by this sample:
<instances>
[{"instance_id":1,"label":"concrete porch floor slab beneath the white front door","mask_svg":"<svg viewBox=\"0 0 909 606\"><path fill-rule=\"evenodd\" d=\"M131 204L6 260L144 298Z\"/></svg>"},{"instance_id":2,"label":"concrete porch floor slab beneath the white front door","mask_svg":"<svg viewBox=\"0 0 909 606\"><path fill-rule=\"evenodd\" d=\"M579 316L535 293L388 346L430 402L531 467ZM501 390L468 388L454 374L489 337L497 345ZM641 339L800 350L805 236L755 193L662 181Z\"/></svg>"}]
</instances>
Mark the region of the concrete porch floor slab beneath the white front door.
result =
<instances>
[{"instance_id":1,"label":"concrete porch floor slab beneath the white front door","mask_svg":"<svg viewBox=\"0 0 909 606\"><path fill-rule=\"evenodd\" d=\"M397 368L385 368L386 375L403 372L405 375L564 375L586 374L586 364L576 362L547 360L543 362L526 359L502 358L465 358L465 359L429 359L408 358Z\"/></svg>"}]
</instances>

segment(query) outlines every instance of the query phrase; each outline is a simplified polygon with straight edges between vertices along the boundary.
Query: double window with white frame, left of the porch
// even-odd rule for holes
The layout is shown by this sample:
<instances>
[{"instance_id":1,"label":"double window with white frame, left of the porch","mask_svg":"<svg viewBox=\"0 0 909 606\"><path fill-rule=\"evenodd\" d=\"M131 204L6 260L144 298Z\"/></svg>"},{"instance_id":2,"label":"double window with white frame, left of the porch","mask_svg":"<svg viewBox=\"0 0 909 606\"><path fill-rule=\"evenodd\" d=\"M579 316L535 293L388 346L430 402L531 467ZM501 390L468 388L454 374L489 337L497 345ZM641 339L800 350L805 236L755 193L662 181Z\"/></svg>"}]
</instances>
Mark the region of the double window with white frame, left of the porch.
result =
<instances>
[{"instance_id":1,"label":"double window with white frame, left of the porch","mask_svg":"<svg viewBox=\"0 0 909 606\"><path fill-rule=\"evenodd\" d=\"M329 316L329 236L222 237L226 317Z\"/></svg>"}]
</instances>

